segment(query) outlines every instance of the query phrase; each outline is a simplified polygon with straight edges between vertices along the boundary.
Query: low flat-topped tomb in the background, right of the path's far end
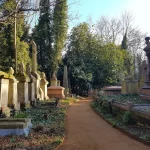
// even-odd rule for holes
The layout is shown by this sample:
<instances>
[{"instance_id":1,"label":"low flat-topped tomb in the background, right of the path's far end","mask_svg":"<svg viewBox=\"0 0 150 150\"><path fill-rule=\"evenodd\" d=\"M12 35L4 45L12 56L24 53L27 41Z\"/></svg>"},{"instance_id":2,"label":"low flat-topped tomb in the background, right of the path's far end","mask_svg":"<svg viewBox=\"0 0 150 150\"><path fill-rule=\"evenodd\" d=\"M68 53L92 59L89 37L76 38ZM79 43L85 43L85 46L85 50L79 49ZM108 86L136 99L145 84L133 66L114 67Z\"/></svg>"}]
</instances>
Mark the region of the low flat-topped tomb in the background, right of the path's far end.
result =
<instances>
[{"instance_id":1,"label":"low flat-topped tomb in the background, right of the path's far end","mask_svg":"<svg viewBox=\"0 0 150 150\"><path fill-rule=\"evenodd\" d=\"M118 95L121 94L121 86L109 86L103 88L105 95Z\"/></svg>"}]
</instances>

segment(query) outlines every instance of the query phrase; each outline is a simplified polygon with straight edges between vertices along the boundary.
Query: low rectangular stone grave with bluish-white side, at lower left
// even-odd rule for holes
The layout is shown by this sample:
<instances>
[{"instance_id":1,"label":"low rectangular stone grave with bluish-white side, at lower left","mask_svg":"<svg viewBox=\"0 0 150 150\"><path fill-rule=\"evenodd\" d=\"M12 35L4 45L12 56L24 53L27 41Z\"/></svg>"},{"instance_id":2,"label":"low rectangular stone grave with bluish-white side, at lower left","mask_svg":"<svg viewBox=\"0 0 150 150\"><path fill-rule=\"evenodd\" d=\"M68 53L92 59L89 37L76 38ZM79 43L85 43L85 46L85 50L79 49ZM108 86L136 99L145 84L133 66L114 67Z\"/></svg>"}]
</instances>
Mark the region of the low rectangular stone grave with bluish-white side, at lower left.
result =
<instances>
[{"instance_id":1,"label":"low rectangular stone grave with bluish-white side, at lower left","mask_svg":"<svg viewBox=\"0 0 150 150\"><path fill-rule=\"evenodd\" d=\"M31 119L4 118L0 119L0 136L24 135L28 136L32 127Z\"/></svg>"}]
</instances>

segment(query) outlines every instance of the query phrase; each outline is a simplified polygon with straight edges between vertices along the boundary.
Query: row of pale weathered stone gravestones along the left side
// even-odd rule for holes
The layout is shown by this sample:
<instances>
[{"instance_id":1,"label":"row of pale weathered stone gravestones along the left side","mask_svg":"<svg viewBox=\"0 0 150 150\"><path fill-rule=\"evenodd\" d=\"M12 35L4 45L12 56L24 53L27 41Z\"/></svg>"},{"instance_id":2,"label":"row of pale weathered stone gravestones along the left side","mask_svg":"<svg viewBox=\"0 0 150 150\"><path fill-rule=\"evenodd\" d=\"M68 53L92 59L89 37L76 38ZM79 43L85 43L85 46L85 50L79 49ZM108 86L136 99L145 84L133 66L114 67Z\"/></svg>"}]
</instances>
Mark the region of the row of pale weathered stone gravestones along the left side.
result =
<instances>
[{"instance_id":1,"label":"row of pale weathered stone gravestones along the left side","mask_svg":"<svg viewBox=\"0 0 150 150\"><path fill-rule=\"evenodd\" d=\"M29 107L37 99L48 99L45 73L31 72L29 64L25 70L21 63L15 76L13 68L9 69L8 75L11 78L0 78L0 108L7 117L11 107L19 110L21 106Z\"/></svg>"}]
</instances>

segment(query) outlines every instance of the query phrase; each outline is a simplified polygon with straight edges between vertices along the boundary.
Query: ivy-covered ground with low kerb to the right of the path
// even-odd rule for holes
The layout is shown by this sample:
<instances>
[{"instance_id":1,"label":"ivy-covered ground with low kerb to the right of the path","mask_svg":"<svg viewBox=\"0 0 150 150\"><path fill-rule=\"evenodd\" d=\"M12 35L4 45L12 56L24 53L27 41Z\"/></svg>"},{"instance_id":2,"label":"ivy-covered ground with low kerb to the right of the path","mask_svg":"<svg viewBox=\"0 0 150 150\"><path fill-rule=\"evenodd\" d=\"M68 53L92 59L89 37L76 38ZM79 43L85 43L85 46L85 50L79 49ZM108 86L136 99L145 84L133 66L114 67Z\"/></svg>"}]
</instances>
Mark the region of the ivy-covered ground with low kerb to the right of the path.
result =
<instances>
[{"instance_id":1,"label":"ivy-covered ground with low kerb to the right of the path","mask_svg":"<svg viewBox=\"0 0 150 150\"><path fill-rule=\"evenodd\" d=\"M111 95L104 96L100 94L97 99L95 99L91 106L92 108L112 127L118 128L121 131L125 131L125 134L136 138L150 145L150 126L138 121L135 121L132 117L131 111L118 111L110 107L110 101L115 100L115 102L127 104L129 101L133 104L142 105L145 104L149 106L150 101L142 100L137 94L126 94L126 95ZM144 108L144 111L150 113L149 107Z\"/></svg>"}]
</instances>

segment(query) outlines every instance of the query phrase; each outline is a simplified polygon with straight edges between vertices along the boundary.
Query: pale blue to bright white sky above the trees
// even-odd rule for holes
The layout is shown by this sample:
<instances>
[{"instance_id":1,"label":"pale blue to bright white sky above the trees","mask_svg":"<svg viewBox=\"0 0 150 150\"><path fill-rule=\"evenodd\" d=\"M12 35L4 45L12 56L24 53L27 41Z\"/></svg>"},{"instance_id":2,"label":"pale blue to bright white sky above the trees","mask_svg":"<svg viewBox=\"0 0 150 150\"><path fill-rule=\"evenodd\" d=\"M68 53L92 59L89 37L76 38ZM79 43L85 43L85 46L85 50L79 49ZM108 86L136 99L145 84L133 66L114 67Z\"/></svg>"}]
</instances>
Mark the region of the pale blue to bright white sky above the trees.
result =
<instances>
[{"instance_id":1,"label":"pale blue to bright white sky above the trees","mask_svg":"<svg viewBox=\"0 0 150 150\"><path fill-rule=\"evenodd\" d=\"M95 24L101 16L119 17L127 11L134 16L134 25L150 36L150 0L68 0L70 14L78 14L71 26L87 22Z\"/></svg>"}]
</instances>

